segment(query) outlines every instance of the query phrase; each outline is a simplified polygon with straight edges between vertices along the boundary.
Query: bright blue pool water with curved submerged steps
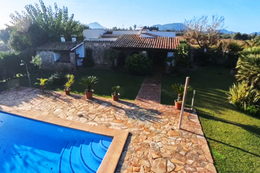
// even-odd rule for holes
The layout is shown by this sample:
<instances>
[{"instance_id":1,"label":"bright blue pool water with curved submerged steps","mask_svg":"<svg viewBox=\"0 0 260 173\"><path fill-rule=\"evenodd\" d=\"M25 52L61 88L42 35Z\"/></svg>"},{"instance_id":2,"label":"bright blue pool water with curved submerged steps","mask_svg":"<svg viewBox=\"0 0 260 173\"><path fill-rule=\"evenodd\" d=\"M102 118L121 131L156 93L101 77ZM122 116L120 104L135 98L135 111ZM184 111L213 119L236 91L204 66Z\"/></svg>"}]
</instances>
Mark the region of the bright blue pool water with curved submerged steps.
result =
<instances>
[{"instance_id":1,"label":"bright blue pool water with curved submerged steps","mask_svg":"<svg viewBox=\"0 0 260 173\"><path fill-rule=\"evenodd\" d=\"M0 172L96 172L112 137L0 111Z\"/></svg>"}]
</instances>

